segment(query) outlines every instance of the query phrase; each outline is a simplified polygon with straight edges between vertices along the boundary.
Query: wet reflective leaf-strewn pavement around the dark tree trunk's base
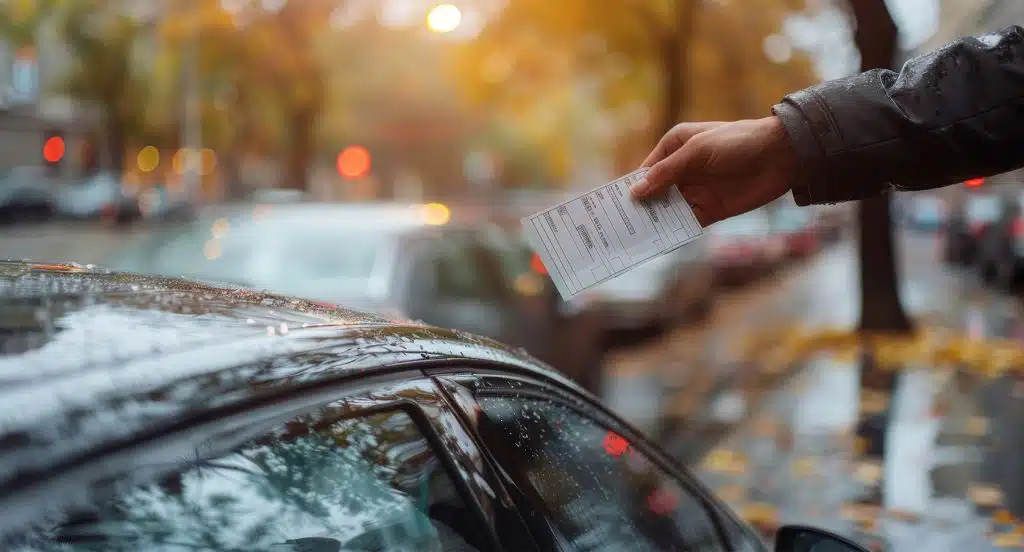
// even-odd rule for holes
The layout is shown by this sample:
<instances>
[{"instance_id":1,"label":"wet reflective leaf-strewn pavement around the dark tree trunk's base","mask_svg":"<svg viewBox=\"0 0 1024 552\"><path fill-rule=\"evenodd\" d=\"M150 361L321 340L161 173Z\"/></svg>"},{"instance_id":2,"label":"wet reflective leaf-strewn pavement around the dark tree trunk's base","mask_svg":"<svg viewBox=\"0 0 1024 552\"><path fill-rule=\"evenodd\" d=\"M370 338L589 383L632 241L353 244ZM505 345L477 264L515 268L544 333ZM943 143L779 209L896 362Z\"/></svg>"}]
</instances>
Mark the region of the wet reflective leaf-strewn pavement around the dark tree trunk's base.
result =
<instances>
[{"instance_id":1,"label":"wet reflective leaf-strewn pavement around the dark tree trunk's base","mask_svg":"<svg viewBox=\"0 0 1024 552\"><path fill-rule=\"evenodd\" d=\"M1018 299L941 266L934 239L902 241L904 302L922 326L982 343L1022 339ZM1024 518L1024 372L986 377L925 362L862 377L847 350L788 370L736 352L737 341L770 328L851 327L854 278L853 248L841 244L741 304L731 321L622 353L607 398L768 530L810 523L896 551L1024 548L1016 522ZM717 339L692 346L711 330ZM733 376L716 383L703 369Z\"/></svg>"}]
</instances>

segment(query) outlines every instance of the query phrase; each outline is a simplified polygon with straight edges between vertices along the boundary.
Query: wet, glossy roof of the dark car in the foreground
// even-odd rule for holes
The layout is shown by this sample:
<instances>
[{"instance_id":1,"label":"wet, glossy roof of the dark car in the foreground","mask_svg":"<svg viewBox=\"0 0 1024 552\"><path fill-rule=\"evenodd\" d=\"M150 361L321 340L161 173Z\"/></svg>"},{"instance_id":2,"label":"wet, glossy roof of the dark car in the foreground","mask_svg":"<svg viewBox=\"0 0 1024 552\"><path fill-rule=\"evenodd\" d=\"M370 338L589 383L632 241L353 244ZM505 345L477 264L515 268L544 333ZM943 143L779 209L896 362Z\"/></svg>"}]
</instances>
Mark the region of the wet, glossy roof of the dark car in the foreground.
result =
<instances>
[{"instance_id":1,"label":"wet, glossy roof of the dark car in the foreground","mask_svg":"<svg viewBox=\"0 0 1024 552\"><path fill-rule=\"evenodd\" d=\"M410 362L499 363L579 389L521 350L239 288L0 261L0 489L214 407Z\"/></svg>"}]
</instances>

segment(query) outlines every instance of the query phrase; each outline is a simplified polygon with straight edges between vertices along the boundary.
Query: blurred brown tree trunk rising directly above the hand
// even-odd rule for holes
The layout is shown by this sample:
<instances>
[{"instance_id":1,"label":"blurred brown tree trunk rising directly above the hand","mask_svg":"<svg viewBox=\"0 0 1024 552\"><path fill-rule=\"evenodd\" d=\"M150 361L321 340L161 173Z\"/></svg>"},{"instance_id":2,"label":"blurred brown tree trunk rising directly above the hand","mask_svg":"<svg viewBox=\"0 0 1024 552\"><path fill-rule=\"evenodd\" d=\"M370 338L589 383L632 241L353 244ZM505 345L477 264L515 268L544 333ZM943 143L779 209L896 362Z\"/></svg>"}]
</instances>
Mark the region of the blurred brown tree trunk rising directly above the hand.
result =
<instances>
[{"instance_id":1,"label":"blurred brown tree trunk rising directly above the hand","mask_svg":"<svg viewBox=\"0 0 1024 552\"><path fill-rule=\"evenodd\" d=\"M679 123L689 99L686 79L689 76L689 49L693 40L696 9L696 0L676 0L676 20L662 39L662 61L665 65L665 109L659 125L662 134Z\"/></svg>"}]
</instances>

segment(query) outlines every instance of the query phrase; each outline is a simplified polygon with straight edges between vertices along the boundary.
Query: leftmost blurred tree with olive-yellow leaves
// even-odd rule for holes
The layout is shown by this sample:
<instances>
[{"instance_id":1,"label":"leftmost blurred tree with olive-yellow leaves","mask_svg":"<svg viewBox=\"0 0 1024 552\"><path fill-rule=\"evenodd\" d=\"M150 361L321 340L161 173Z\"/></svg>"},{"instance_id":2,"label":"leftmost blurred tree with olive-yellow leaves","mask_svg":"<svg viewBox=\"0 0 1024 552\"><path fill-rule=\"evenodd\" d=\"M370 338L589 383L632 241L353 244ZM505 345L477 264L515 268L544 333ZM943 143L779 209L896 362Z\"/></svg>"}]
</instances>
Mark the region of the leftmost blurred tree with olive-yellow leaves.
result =
<instances>
[{"instance_id":1,"label":"leftmost blurred tree with olive-yellow leaves","mask_svg":"<svg viewBox=\"0 0 1024 552\"><path fill-rule=\"evenodd\" d=\"M141 26L115 7L103 0L62 4L58 28L72 62L59 88L101 111L106 151L120 169L129 140L145 132L148 79L133 63Z\"/></svg>"}]
</instances>

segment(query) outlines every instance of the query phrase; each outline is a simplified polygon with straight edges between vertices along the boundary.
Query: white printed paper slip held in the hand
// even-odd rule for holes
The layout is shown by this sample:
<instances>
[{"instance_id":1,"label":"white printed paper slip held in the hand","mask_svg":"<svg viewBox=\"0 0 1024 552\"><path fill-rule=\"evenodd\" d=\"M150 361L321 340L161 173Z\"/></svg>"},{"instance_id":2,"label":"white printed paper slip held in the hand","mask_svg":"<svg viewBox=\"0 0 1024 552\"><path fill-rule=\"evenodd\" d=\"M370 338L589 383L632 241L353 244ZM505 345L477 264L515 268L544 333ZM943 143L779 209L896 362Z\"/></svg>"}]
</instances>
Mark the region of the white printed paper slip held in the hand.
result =
<instances>
[{"instance_id":1,"label":"white printed paper slip held in the hand","mask_svg":"<svg viewBox=\"0 0 1024 552\"><path fill-rule=\"evenodd\" d=\"M630 186L647 169L598 186L522 219L526 241L541 256L562 299L699 238L703 228L676 186L634 201Z\"/></svg>"}]
</instances>

